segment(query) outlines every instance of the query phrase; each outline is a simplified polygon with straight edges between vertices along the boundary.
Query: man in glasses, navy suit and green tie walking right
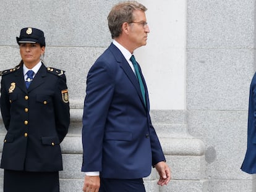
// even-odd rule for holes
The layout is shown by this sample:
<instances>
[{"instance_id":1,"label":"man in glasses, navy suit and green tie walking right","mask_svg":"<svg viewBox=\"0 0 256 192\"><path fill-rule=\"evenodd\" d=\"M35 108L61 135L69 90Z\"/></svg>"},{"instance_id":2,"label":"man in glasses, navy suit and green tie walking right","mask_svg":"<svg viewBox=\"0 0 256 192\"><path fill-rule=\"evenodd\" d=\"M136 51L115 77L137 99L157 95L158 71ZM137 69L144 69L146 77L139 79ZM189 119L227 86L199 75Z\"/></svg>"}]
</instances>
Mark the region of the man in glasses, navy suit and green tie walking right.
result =
<instances>
[{"instance_id":1,"label":"man in glasses, navy suit and green tie walking right","mask_svg":"<svg viewBox=\"0 0 256 192\"><path fill-rule=\"evenodd\" d=\"M83 111L83 191L143 192L151 166L167 185L171 171L151 124L147 85L132 56L147 44L145 11L135 1L121 2L108 15L113 43L87 76ZM130 58L133 59L130 60Z\"/></svg>"}]
</instances>

